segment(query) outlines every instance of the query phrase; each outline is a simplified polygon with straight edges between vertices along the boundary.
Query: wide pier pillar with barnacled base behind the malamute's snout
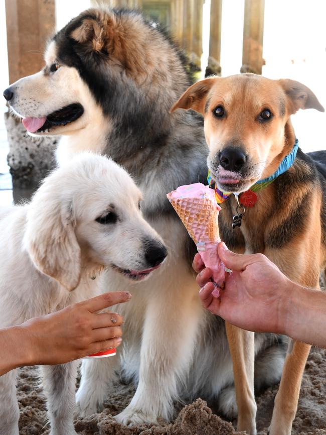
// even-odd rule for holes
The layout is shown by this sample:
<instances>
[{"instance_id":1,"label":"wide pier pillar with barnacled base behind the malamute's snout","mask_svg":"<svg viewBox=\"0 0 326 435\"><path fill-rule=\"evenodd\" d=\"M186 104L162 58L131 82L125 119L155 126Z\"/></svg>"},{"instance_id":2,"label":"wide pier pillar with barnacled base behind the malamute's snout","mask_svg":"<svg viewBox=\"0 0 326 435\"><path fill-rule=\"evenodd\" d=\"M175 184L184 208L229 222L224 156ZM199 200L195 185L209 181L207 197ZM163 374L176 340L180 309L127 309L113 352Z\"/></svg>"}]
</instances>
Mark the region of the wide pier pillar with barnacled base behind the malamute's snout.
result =
<instances>
[{"instance_id":1,"label":"wide pier pillar with barnacled base behind the malamute's snout","mask_svg":"<svg viewBox=\"0 0 326 435\"><path fill-rule=\"evenodd\" d=\"M6 0L10 83L44 66L43 51L55 30L55 0ZM54 165L58 138L32 139L21 122L5 114L14 187L29 188Z\"/></svg>"}]
</instances>

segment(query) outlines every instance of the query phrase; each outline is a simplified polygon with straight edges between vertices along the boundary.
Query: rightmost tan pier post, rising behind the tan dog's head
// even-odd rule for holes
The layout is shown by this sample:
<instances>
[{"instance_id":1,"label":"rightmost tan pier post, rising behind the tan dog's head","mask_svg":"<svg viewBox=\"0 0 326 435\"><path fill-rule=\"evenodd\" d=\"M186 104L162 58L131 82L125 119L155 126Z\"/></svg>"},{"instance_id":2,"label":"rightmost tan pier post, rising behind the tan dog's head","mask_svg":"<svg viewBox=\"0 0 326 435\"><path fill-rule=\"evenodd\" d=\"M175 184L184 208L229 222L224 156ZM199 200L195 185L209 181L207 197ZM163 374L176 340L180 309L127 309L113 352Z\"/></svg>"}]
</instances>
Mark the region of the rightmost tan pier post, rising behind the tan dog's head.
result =
<instances>
[{"instance_id":1,"label":"rightmost tan pier post, rising behind the tan dog's head","mask_svg":"<svg viewBox=\"0 0 326 435\"><path fill-rule=\"evenodd\" d=\"M261 74L265 0L245 0L241 72Z\"/></svg>"}]
</instances>

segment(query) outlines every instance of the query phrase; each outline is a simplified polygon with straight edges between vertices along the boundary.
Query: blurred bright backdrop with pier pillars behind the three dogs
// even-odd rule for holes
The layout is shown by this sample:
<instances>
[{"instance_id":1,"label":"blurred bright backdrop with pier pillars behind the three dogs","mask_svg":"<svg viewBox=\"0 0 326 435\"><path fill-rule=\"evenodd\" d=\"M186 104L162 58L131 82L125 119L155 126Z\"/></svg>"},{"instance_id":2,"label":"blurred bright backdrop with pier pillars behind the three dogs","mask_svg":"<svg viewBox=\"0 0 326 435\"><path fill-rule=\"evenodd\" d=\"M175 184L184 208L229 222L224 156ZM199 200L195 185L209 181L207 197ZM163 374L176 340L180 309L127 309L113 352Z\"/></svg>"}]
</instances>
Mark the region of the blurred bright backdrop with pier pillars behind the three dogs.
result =
<instances>
[{"instance_id":1,"label":"blurred bright backdrop with pier pillars behind the three dogs","mask_svg":"<svg viewBox=\"0 0 326 435\"><path fill-rule=\"evenodd\" d=\"M107 4L143 10L189 57L196 77L254 72L301 81L326 106L323 0L6 0L0 2L0 85L43 67L47 39L81 11ZM33 141L0 103L0 204L28 197L53 165L56 140ZM326 115L300 111L293 125L305 151L326 149ZM7 133L8 130L8 133ZM31 152L31 144L37 153ZM32 147L33 148L33 147ZM7 163L8 156L8 163ZM13 177L12 177L13 176Z\"/></svg>"}]
</instances>

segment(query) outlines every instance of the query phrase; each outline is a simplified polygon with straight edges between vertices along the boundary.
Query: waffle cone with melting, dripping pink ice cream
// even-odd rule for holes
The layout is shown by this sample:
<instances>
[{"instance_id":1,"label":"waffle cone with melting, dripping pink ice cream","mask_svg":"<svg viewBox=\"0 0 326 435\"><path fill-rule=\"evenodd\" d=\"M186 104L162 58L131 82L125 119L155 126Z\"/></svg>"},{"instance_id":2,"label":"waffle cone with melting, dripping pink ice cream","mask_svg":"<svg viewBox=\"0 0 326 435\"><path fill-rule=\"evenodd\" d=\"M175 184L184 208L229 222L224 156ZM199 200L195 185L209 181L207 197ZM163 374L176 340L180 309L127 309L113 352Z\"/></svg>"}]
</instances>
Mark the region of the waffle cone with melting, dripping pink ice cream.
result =
<instances>
[{"instance_id":1,"label":"waffle cone with melting, dripping pink ice cream","mask_svg":"<svg viewBox=\"0 0 326 435\"><path fill-rule=\"evenodd\" d=\"M221 241L217 218L221 207L216 202L214 190L195 183L180 186L167 197L196 243L205 266L212 270L217 287L224 288L224 264L217 253ZM219 296L218 288L213 291L215 297Z\"/></svg>"}]
</instances>

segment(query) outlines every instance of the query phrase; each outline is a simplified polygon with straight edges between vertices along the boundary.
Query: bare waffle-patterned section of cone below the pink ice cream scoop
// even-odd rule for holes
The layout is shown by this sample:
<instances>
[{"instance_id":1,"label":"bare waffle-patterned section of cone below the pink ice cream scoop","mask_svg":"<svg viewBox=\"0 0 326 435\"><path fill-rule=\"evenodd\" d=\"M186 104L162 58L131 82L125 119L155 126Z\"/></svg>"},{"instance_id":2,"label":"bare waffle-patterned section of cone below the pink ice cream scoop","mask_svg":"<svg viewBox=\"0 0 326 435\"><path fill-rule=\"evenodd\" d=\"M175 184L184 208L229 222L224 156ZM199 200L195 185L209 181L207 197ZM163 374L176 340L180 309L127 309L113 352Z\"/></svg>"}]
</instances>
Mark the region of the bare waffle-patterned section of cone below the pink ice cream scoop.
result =
<instances>
[{"instance_id":1,"label":"bare waffle-patterned section of cone below the pink ice cream scoop","mask_svg":"<svg viewBox=\"0 0 326 435\"><path fill-rule=\"evenodd\" d=\"M219 211L210 198L177 198L170 201L196 244L220 241Z\"/></svg>"}]
</instances>

